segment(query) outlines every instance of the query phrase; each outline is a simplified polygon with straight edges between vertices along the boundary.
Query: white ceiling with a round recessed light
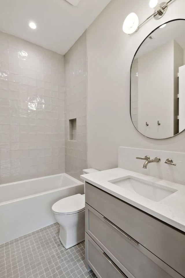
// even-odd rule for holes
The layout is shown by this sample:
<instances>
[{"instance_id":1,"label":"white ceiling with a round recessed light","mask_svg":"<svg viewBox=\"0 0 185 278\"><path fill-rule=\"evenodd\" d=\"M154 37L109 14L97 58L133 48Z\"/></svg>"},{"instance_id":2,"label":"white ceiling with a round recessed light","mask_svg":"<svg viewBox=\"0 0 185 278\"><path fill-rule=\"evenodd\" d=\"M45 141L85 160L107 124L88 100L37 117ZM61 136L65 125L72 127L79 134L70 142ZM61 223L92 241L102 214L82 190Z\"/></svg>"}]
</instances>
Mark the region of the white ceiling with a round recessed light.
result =
<instances>
[{"instance_id":1,"label":"white ceiling with a round recessed light","mask_svg":"<svg viewBox=\"0 0 185 278\"><path fill-rule=\"evenodd\" d=\"M109 2L81 0L72 6L65 0L0 0L0 31L65 54Z\"/></svg>"}]
</instances>

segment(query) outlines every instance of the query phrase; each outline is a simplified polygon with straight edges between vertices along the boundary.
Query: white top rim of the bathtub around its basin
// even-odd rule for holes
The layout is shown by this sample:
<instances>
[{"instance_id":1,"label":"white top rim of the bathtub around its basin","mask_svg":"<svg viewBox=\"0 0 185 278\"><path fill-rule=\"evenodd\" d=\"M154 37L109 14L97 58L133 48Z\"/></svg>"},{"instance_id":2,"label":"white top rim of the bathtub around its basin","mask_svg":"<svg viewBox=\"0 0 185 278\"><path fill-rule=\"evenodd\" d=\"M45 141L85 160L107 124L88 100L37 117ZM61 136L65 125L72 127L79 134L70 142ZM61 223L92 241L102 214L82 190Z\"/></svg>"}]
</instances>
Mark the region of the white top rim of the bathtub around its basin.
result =
<instances>
[{"instance_id":1,"label":"white top rim of the bathtub around its basin","mask_svg":"<svg viewBox=\"0 0 185 278\"><path fill-rule=\"evenodd\" d=\"M40 196L40 195L44 195L44 194L49 194L51 192L61 191L61 190L66 189L66 188L71 188L71 187L75 187L75 186L83 185L84 184L84 182L80 182L79 180L73 178L72 176L70 176L70 175L68 175L66 173L61 173L61 174L56 174L56 175L49 175L49 176L44 176L44 177L40 177L40 178L29 179L29 180L21 180L21 181L18 181L18 182L5 183L5 184L1 184L0 188L3 187L3 186L6 186L6 185L13 185L13 184L17 184L17 183L23 183L23 182L28 182L28 181L40 180L40 179L44 179L44 178L49 178L49 177L54 177L54 176L61 176L61 175L65 175L66 177L68 177L71 180L73 180L75 183L72 184L72 185L61 187L61 188L57 188L57 189L53 189L53 190L48 190L48 191L43 191L43 192L40 192L40 193L37 193L37 194L32 194L32 195L28 195L28 196L25 196L25 197L20 197L20 198L12 199L12 200L5 201L5 202L0 202L0 206L3 206L5 204L10 204L10 203L13 203L13 202L18 202L18 201L21 201L21 200L26 200L26 199L29 199L29 198L34 198L36 196Z\"/></svg>"}]
</instances>

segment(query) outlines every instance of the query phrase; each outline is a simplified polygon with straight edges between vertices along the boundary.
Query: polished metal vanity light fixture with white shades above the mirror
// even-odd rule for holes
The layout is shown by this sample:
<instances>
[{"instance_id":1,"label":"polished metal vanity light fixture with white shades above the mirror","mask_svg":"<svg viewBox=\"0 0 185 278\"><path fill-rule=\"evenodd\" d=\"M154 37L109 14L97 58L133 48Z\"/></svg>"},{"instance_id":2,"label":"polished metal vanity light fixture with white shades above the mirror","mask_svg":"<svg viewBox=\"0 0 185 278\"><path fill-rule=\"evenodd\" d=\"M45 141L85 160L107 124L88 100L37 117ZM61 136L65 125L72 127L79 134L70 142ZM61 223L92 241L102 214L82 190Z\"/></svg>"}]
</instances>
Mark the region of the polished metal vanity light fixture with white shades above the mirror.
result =
<instances>
[{"instance_id":1,"label":"polished metal vanity light fixture with white shades above the mirror","mask_svg":"<svg viewBox=\"0 0 185 278\"><path fill-rule=\"evenodd\" d=\"M150 0L149 6L150 8L154 9L155 11L153 14L151 14L147 19L145 19L142 23L139 24L139 19L137 14L134 12L131 12L127 15L123 22L123 32L126 34L132 34L138 30L138 28L143 25L147 20L149 20L151 17L154 19L160 19L166 12L168 5L171 1L169 0L167 2L158 3L158 0ZM166 25L163 24L160 28L165 27Z\"/></svg>"}]
</instances>

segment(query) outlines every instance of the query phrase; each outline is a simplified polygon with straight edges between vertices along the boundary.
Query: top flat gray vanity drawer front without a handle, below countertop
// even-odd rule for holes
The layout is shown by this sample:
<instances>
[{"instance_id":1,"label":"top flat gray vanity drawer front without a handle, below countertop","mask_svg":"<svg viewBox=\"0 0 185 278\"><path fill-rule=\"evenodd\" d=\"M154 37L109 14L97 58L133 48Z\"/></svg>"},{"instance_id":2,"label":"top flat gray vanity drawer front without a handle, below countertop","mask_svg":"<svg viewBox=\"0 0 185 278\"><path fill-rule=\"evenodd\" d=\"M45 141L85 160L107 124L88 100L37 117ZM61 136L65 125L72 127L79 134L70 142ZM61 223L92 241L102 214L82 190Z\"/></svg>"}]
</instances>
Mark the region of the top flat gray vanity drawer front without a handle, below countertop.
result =
<instances>
[{"instance_id":1,"label":"top flat gray vanity drawer front without a handle, below countertop","mask_svg":"<svg viewBox=\"0 0 185 278\"><path fill-rule=\"evenodd\" d=\"M185 277L185 234L86 182L86 203Z\"/></svg>"}]
</instances>

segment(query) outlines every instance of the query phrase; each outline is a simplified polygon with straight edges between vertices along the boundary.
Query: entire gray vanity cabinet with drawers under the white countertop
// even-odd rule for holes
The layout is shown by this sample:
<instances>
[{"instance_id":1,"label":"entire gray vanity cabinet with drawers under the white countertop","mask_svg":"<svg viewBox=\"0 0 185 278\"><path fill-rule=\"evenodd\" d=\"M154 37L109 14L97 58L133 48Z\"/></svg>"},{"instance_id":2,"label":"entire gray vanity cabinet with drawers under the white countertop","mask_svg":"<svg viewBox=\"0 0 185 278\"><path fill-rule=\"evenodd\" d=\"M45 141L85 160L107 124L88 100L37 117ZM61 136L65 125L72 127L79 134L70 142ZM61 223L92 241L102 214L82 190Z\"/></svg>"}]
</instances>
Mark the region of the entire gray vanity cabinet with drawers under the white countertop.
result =
<instances>
[{"instance_id":1,"label":"entire gray vanity cabinet with drawers under the white countertop","mask_svg":"<svg viewBox=\"0 0 185 278\"><path fill-rule=\"evenodd\" d=\"M154 224L151 225L148 217L151 222L154 221ZM165 226L162 230L165 232L162 238L158 233L158 229L161 229L160 225ZM154 231L151 233L150 229ZM176 238L179 235L181 243L185 243L183 233L86 183L86 265L94 270L98 278L113 278L120 275L128 278L182 278L185 276L182 264L182 261L185 262L185 253L183 253L185 245L180 246L179 238ZM150 238L151 246L156 245L163 249L166 244L165 237L167 239L172 237L176 243L169 241L169 244L172 248L179 247L180 250L177 250L178 254L174 253L176 249L174 252L171 250L173 253L166 254L166 257L165 252L158 252L163 255L162 260L153 252L157 248L151 250L147 248L147 244ZM179 252L184 257L178 258ZM172 261L173 258L174 261L179 259L180 263L173 266L166 264L164 259L169 260L169 257ZM106 272L109 268L118 276L109 276L109 273L112 273Z\"/></svg>"}]
</instances>

